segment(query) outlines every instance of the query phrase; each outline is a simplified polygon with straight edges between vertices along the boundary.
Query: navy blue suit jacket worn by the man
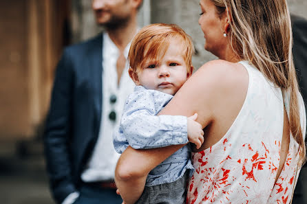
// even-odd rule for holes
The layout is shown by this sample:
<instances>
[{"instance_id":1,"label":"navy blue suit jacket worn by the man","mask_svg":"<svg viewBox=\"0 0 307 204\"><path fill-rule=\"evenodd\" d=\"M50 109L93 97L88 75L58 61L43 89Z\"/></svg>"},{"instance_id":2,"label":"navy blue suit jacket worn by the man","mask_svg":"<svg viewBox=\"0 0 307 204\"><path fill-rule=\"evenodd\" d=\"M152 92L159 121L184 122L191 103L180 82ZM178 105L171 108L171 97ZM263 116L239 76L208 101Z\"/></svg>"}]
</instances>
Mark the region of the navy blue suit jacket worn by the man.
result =
<instances>
[{"instance_id":1,"label":"navy blue suit jacket worn by the man","mask_svg":"<svg viewBox=\"0 0 307 204\"><path fill-rule=\"evenodd\" d=\"M56 68L44 145L52 195L62 203L81 184L98 138L102 107L100 34L67 47Z\"/></svg>"}]
</instances>

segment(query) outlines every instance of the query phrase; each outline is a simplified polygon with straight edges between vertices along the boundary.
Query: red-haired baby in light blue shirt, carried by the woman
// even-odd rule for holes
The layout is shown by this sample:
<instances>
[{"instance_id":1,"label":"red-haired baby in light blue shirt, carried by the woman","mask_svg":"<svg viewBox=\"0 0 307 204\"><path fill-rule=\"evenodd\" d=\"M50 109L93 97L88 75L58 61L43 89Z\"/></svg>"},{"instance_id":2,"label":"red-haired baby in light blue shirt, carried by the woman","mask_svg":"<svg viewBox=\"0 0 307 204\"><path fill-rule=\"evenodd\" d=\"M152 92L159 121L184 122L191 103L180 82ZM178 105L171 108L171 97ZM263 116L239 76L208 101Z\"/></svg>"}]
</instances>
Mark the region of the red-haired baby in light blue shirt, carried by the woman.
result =
<instances>
[{"instance_id":1,"label":"red-haired baby in light blue shirt, carried by the woman","mask_svg":"<svg viewBox=\"0 0 307 204\"><path fill-rule=\"evenodd\" d=\"M178 25L156 23L143 27L129 50L129 76L136 87L125 103L114 148L122 153L191 142L200 148L202 126L191 117L157 115L193 71L191 38ZM183 146L149 173L137 203L184 203L186 185L194 168L191 148Z\"/></svg>"}]
</instances>

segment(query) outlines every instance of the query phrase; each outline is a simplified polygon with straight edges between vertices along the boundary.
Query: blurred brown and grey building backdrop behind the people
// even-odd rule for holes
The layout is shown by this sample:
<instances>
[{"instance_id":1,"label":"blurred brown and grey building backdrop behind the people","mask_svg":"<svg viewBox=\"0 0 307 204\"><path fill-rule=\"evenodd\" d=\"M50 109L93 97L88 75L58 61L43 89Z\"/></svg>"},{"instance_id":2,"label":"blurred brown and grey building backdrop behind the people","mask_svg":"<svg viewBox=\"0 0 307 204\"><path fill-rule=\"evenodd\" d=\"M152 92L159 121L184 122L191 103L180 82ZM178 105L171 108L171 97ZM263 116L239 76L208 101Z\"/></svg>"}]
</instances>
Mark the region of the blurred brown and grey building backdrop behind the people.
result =
<instances>
[{"instance_id":1,"label":"blurred brown and grey building backdrop behind the people","mask_svg":"<svg viewBox=\"0 0 307 204\"><path fill-rule=\"evenodd\" d=\"M288 0L307 18L306 0ZM177 23L193 38L197 69L204 51L198 0L144 0L139 25ZM101 32L91 0L0 0L0 203L54 204L43 158L43 128L63 47Z\"/></svg>"}]
</instances>

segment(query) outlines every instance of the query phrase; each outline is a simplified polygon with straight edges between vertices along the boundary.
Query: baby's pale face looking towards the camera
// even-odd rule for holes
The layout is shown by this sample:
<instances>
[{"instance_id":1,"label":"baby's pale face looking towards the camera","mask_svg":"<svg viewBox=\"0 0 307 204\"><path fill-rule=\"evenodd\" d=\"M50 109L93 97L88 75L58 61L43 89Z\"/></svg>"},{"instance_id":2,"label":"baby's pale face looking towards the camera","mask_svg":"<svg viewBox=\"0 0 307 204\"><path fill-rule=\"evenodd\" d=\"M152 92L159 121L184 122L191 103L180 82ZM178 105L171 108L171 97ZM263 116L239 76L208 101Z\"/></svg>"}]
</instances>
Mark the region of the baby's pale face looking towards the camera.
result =
<instances>
[{"instance_id":1,"label":"baby's pale face looking towards the camera","mask_svg":"<svg viewBox=\"0 0 307 204\"><path fill-rule=\"evenodd\" d=\"M180 41L172 39L165 56L159 61L147 61L138 72L136 85L174 95L191 73L187 72Z\"/></svg>"}]
</instances>

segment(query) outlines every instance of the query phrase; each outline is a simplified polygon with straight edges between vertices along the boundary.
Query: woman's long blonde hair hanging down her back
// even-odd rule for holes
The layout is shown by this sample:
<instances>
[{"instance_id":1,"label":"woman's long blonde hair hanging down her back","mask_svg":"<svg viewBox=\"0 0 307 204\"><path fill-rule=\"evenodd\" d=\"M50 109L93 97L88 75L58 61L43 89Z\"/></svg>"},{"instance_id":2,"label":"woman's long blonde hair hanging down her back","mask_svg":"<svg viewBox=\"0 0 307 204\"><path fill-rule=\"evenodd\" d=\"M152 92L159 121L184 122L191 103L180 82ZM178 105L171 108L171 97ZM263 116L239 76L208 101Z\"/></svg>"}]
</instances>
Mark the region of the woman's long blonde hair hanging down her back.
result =
<instances>
[{"instance_id":1,"label":"woman's long blonde hair hanging down her back","mask_svg":"<svg viewBox=\"0 0 307 204\"><path fill-rule=\"evenodd\" d=\"M299 117L299 87L293 63L293 36L286 0L210 0L218 16L230 19L229 39L235 54L290 95L290 132L299 144L299 164L306 146Z\"/></svg>"}]
</instances>

